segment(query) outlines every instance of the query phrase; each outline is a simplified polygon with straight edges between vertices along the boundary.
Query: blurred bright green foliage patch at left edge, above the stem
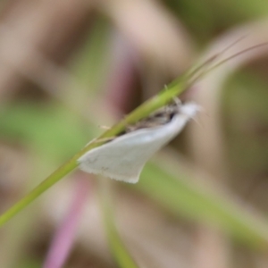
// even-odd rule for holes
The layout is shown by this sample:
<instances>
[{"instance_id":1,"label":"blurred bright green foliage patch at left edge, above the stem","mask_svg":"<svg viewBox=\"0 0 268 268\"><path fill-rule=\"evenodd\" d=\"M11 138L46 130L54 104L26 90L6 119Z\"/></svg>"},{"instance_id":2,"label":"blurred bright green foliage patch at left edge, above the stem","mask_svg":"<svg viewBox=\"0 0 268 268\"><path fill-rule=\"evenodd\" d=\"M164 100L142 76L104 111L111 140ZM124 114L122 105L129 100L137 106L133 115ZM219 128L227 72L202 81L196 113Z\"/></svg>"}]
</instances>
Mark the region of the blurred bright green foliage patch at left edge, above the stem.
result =
<instances>
[{"instance_id":1,"label":"blurred bright green foliage patch at left edge, above the stem","mask_svg":"<svg viewBox=\"0 0 268 268\"><path fill-rule=\"evenodd\" d=\"M82 121L59 104L15 103L1 114L1 132L9 142L30 144L54 161L68 159L88 141ZM90 128L94 137L93 127Z\"/></svg>"}]
</instances>

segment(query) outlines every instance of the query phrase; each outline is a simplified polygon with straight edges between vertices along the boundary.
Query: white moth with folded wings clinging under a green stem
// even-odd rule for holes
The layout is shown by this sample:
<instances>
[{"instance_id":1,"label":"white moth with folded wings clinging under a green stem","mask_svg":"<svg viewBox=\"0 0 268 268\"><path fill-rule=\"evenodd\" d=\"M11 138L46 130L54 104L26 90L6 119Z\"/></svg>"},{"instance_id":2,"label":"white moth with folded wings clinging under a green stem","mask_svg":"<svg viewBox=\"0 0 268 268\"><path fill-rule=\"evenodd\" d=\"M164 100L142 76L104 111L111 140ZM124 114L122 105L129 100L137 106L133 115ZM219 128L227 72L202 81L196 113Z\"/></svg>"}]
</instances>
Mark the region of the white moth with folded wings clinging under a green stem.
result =
<instances>
[{"instance_id":1,"label":"white moth with folded wings clinging under a green stem","mask_svg":"<svg viewBox=\"0 0 268 268\"><path fill-rule=\"evenodd\" d=\"M138 182L147 160L176 137L199 109L194 103L181 105L176 99L172 105L129 126L125 134L82 155L78 159L80 169L114 180Z\"/></svg>"}]
</instances>

